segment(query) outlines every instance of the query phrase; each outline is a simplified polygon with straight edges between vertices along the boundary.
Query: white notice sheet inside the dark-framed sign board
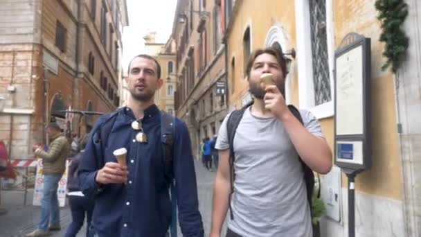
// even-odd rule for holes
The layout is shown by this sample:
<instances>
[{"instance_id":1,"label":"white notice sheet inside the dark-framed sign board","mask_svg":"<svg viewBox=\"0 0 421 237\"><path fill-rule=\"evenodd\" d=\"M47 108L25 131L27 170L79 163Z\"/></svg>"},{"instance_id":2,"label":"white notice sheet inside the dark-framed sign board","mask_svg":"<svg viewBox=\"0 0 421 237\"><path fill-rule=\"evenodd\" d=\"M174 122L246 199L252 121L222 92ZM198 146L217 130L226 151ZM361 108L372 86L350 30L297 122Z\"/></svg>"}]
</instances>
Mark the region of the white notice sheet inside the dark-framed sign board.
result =
<instances>
[{"instance_id":1,"label":"white notice sheet inside the dark-framed sign board","mask_svg":"<svg viewBox=\"0 0 421 237\"><path fill-rule=\"evenodd\" d=\"M363 134L363 46L337 58L337 135Z\"/></svg>"}]
</instances>

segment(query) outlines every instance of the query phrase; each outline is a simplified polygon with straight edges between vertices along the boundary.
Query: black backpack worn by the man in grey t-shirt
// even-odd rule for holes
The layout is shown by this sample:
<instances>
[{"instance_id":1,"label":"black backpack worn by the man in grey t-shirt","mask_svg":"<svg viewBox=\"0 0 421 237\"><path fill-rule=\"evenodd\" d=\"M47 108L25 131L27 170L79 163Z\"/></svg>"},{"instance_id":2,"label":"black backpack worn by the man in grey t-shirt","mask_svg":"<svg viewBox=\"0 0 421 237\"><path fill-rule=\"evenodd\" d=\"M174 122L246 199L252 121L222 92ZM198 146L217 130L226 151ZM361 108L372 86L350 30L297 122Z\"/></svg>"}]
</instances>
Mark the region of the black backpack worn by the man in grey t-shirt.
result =
<instances>
[{"instance_id":1,"label":"black backpack worn by the man in grey t-shirt","mask_svg":"<svg viewBox=\"0 0 421 237\"><path fill-rule=\"evenodd\" d=\"M231 196L234 193L234 179L235 179L235 171L234 171L235 152L233 149L234 137L235 137L235 132L237 131L238 125L240 124L240 121L244 114L244 111L246 111L246 109L252 104L253 102L245 105L244 107L242 107L242 109L234 110L229 116L228 122L226 123L229 148L230 148L229 170L230 170L230 176L231 176L230 178L231 192L229 193L229 210L230 210L231 219L234 218L233 209L231 209ZM294 107L294 105L288 105L288 109L289 111L292 112L292 114L294 114L296 119L298 119L298 121L300 121L301 124L303 124L303 118L301 118L301 114L298 111L298 109ZM307 164L305 164L305 162L301 159L301 157L298 156L298 159L301 162L301 166L303 166L303 173L304 173L303 179L305 182L305 187L307 188L307 201L311 210L312 209L312 193L314 190L314 173L312 169L308 167Z\"/></svg>"}]
</instances>

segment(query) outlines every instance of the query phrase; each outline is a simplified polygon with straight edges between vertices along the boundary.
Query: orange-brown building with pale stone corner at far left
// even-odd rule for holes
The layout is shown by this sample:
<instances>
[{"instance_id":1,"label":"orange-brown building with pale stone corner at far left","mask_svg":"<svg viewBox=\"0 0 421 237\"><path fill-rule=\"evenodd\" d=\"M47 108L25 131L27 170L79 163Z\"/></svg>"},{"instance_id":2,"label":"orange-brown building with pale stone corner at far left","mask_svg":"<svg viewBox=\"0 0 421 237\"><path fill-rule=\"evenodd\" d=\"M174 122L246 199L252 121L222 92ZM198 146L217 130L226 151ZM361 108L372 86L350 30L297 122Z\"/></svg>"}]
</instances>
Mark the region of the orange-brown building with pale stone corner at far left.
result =
<instances>
[{"instance_id":1,"label":"orange-brown building with pale stone corner at far left","mask_svg":"<svg viewBox=\"0 0 421 237\"><path fill-rule=\"evenodd\" d=\"M12 159L33 158L30 148L47 142L49 121L69 137L89 132L95 117L63 110L118 106L127 24L124 0L2 1L0 139Z\"/></svg>"}]
</instances>

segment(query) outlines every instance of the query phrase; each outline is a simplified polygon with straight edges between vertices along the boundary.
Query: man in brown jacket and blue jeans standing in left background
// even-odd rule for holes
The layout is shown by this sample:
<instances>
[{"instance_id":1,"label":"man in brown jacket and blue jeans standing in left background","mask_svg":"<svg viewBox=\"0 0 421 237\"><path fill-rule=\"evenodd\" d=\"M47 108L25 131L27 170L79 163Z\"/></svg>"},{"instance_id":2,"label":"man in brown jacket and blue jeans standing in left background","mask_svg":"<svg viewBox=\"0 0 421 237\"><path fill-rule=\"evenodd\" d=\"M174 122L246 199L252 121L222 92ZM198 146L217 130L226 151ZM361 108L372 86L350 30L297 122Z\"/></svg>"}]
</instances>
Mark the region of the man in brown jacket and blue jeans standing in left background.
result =
<instances>
[{"instance_id":1,"label":"man in brown jacket and blue jeans standing in left background","mask_svg":"<svg viewBox=\"0 0 421 237\"><path fill-rule=\"evenodd\" d=\"M44 164L44 188L41 201L41 220L38 229L26 234L30 237L47 236L48 231L60 230L60 209L58 207L57 188L69 155L69 143L57 123L48 123L46 133L50 138L48 151L42 146L33 146L34 154L42 158ZM48 223L51 225L48 227Z\"/></svg>"}]
</instances>

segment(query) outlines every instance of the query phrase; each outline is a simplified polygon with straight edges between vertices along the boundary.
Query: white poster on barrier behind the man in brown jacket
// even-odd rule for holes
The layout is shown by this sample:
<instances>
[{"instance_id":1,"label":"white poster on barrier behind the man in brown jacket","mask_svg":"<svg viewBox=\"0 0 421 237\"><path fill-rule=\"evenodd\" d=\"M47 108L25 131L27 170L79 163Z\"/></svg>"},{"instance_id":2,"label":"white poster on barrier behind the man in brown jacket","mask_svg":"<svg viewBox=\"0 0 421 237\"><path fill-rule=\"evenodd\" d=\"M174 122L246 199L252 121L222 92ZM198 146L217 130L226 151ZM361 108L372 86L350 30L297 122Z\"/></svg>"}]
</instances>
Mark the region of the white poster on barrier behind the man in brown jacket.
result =
<instances>
[{"instance_id":1,"label":"white poster on barrier behind the man in brown jacket","mask_svg":"<svg viewBox=\"0 0 421 237\"><path fill-rule=\"evenodd\" d=\"M60 207L66 204L66 188L67 188L67 172L69 170L69 160L66 160L66 170L58 183L57 198ZM44 188L44 170L42 159L37 161L37 175L35 175L35 188L34 188L34 206L41 206L42 188Z\"/></svg>"}]
</instances>

